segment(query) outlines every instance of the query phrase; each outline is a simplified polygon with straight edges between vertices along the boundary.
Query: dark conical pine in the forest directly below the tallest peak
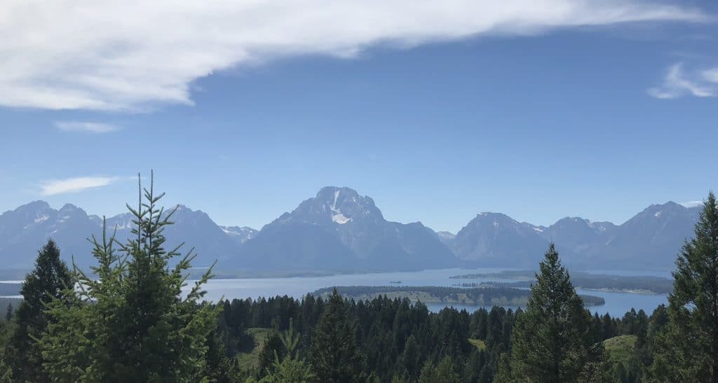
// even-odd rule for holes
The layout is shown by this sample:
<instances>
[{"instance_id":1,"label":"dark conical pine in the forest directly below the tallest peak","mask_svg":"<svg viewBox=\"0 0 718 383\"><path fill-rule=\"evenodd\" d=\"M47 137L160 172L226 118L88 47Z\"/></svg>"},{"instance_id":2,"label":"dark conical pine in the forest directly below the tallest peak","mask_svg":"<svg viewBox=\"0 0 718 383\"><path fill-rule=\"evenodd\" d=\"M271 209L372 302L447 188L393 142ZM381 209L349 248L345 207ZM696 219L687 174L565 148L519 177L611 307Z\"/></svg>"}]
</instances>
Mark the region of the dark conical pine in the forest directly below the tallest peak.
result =
<instances>
[{"instance_id":1,"label":"dark conical pine in the forest directly below the tallest peak","mask_svg":"<svg viewBox=\"0 0 718 383\"><path fill-rule=\"evenodd\" d=\"M344 298L335 289L314 331L309 361L320 382L363 382L365 359Z\"/></svg>"}]
</instances>

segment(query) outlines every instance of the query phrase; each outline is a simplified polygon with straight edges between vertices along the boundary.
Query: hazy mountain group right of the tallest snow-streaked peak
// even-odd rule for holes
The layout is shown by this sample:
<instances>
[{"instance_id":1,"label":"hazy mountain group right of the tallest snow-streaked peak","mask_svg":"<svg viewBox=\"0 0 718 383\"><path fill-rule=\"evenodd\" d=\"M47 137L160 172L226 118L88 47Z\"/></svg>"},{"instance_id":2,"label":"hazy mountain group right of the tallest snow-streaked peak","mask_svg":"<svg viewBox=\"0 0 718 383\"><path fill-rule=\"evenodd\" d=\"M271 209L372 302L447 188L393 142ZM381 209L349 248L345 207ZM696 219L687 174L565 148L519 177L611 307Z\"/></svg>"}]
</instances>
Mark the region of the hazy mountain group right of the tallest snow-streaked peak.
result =
<instances>
[{"instance_id":1,"label":"hazy mountain group right of the tallest snow-streaked peak","mask_svg":"<svg viewBox=\"0 0 718 383\"><path fill-rule=\"evenodd\" d=\"M573 268L671 270L701 208L654 204L618 226L566 217L541 227L482 213L457 233L452 250L472 267L533 268L554 242L564 263Z\"/></svg>"}]
</instances>

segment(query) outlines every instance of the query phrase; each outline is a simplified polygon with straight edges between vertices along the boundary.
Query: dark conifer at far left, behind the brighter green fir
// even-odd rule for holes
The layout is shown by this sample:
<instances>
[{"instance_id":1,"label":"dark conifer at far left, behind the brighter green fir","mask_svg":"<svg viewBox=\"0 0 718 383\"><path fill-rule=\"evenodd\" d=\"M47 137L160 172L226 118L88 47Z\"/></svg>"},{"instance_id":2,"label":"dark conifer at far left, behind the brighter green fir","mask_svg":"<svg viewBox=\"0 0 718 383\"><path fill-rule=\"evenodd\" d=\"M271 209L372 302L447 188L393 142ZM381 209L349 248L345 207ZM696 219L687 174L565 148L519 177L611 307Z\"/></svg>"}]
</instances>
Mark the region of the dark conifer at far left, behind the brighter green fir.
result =
<instances>
[{"instance_id":1,"label":"dark conifer at far left, behind the brighter green fir","mask_svg":"<svg viewBox=\"0 0 718 383\"><path fill-rule=\"evenodd\" d=\"M5 360L14 380L44 382L49 379L42 368L42 354L35 339L42 336L49 321L54 321L46 315L45 304L61 298L70 286L70 272L60 260L60 250L53 240L48 240L37 254L34 270L22 284L22 303L15 313L11 306L8 308L7 316L14 318L15 330L5 349Z\"/></svg>"}]
</instances>

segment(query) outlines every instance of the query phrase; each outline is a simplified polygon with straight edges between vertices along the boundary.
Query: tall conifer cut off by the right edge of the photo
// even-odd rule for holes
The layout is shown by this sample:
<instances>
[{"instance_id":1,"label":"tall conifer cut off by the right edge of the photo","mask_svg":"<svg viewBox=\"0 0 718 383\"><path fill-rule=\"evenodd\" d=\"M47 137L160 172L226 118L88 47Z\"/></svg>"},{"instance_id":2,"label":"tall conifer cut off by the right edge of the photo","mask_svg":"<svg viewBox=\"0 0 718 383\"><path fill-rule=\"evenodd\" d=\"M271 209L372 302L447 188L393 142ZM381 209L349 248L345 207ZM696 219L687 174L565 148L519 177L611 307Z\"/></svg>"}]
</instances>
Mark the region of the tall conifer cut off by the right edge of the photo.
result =
<instances>
[{"instance_id":1,"label":"tall conifer cut off by the right edge of the photo","mask_svg":"<svg viewBox=\"0 0 718 383\"><path fill-rule=\"evenodd\" d=\"M668 324L656 336L658 381L718 383L718 204L704 201L695 236L676 260Z\"/></svg>"}]
</instances>

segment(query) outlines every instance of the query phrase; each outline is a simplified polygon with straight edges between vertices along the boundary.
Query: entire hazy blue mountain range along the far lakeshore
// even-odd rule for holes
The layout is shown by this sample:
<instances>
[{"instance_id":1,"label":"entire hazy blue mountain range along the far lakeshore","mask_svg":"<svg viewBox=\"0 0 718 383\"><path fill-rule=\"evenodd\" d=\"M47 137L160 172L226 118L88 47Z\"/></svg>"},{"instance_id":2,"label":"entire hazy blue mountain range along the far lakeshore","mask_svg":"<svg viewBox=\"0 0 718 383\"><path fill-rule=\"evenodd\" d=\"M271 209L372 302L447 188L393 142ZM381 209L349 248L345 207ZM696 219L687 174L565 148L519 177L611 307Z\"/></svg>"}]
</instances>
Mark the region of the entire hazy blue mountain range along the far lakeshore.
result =
<instances>
[{"instance_id":1,"label":"entire hazy blue mountain range along the far lakeshore","mask_svg":"<svg viewBox=\"0 0 718 383\"><path fill-rule=\"evenodd\" d=\"M261 230L219 226L200 210L180 205L167 227L167 247L180 242L198 254L194 265L217 260L218 270L386 271L451 267L535 268L549 242L572 268L671 270L691 237L701 207L653 204L616 225L579 217L549 227L482 212L454 235L421 222L384 219L373 199L328 186ZM81 268L93 264L87 237L101 236L103 220L65 204L36 201L0 215L4 269L32 268L37 250L52 237L62 256ZM131 214L106 219L120 241L131 235Z\"/></svg>"}]
</instances>

